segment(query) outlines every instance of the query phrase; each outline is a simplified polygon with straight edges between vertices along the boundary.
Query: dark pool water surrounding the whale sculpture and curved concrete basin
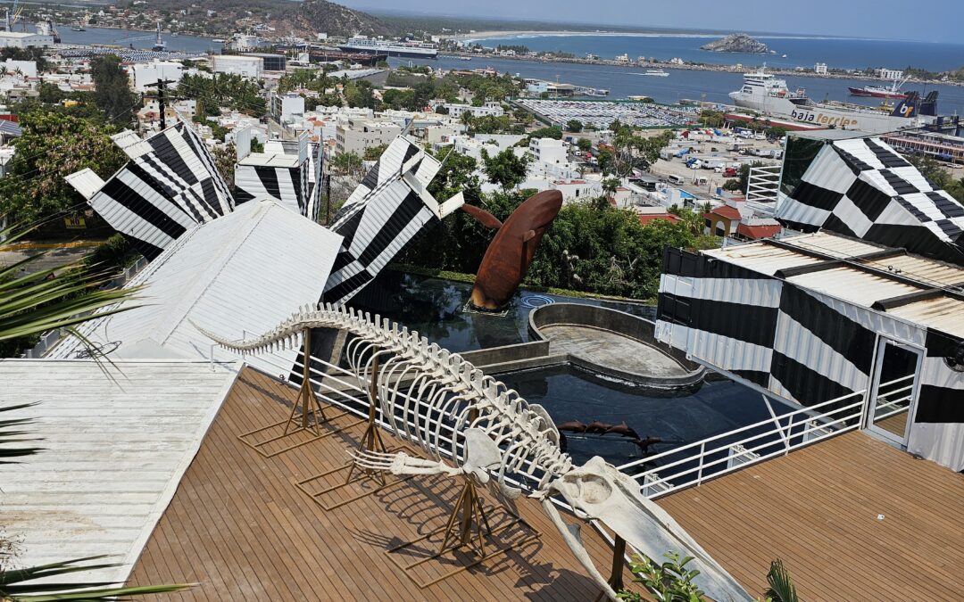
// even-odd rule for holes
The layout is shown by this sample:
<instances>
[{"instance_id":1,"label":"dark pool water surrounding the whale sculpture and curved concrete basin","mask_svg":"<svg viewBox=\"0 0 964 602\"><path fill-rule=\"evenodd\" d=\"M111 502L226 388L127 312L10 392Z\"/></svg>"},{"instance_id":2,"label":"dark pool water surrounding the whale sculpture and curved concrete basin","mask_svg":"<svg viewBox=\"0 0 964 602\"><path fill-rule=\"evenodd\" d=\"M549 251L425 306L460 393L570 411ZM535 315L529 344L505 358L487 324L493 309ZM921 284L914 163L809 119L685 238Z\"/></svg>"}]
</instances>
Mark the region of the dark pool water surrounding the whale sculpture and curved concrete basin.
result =
<instances>
[{"instance_id":1,"label":"dark pool water surrounding the whale sculpture and curved concrete basin","mask_svg":"<svg viewBox=\"0 0 964 602\"><path fill-rule=\"evenodd\" d=\"M595 301L520 291L507 312L467 311L471 285L440 278L385 271L352 301L357 309L379 314L417 330L449 351L461 353L527 342L528 315L547 302L579 302L625 311L650 320L656 308L639 303ZM501 374L499 380L523 398L545 406L557 423L578 420L617 425L626 422L639 436L660 437L651 454L699 441L769 417L763 396L731 380L704 382L695 393L660 394L575 366L555 366ZM777 413L787 406L774 403ZM614 434L567 436L568 452L582 463L603 456L620 465L642 458L639 446Z\"/></svg>"}]
</instances>

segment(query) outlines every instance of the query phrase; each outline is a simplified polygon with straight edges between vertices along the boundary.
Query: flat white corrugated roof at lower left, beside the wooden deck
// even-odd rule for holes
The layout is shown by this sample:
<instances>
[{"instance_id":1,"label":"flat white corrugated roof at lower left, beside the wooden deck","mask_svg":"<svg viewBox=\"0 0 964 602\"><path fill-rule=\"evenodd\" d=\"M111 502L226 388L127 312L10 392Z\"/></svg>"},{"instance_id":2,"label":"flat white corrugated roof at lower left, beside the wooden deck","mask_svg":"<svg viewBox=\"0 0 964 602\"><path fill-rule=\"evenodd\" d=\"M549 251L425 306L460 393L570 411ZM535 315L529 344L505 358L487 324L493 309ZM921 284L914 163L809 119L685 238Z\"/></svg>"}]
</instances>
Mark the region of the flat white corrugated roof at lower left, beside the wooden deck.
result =
<instances>
[{"instance_id":1,"label":"flat white corrugated roof at lower left, beside the wooden deck","mask_svg":"<svg viewBox=\"0 0 964 602\"><path fill-rule=\"evenodd\" d=\"M5 418L36 417L27 430L43 448L18 464L0 464L0 524L5 536L22 537L18 565L106 554L121 565L58 581L123 583L197 454L235 367L0 360L0 406L37 404Z\"/></svg>"}]
</instances>

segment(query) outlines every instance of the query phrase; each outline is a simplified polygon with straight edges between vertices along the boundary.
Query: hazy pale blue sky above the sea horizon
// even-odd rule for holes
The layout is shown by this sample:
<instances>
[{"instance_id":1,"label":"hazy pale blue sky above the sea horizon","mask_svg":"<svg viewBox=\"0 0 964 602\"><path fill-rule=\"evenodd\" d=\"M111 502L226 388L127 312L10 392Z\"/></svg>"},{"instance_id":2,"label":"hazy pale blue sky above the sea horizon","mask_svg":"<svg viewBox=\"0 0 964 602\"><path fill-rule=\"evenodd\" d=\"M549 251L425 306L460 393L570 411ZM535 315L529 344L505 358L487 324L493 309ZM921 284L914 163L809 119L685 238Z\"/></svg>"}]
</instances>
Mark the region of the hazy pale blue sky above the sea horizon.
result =
<instances>
[{"instance_id":1,"label":"hazy pale blue sky above the sea horizon","mask_svg":"<svg viewBox=\"0 0 964 602\"><path fill-rule=\"evenodd\" d=\"M959 43L962 0L334 0L368 11ZM944 15L943 17L941 15ZM951 15L951 18L946 18ZM481 26L481 24L480 24ZM964 61L964 52L962 52Z\"/></svg>"}]
</instances>

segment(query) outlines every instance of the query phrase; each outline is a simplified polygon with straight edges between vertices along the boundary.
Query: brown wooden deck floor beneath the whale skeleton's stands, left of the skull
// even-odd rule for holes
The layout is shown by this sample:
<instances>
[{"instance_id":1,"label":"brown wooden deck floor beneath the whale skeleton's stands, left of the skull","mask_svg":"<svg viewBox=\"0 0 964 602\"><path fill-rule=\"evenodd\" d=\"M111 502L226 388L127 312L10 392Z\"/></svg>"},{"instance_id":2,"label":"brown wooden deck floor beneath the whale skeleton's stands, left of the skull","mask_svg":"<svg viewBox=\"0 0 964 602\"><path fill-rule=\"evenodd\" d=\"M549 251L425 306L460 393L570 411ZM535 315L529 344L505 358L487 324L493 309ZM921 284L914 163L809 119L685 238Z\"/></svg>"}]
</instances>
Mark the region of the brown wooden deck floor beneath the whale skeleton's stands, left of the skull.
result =
<instances>
[{"instance_id":1,"label":"brown wooden deck floor beneath the whale skeleton's stands, left of the skull","mask_svg":"<svg viewBox=\"0 0 964 602\"><path fill-rule=\"evenodd\" d=\"M389 558L388 548L441 528L458 490L441 477L412 479L337 510L314 504L295 482L343 464L362 425L273 458L237 435L287 417L295 392L245 370L215 419L174 500L135 565L129 585L198 582L158 600L592 600L598 589L533 501L517 511L541 537L443 580L418 588L395 562L411 563L438 545L430 538ZM348 424L345 418L336 424ZM386 443L392 445L386 435ZM284 445L289 444L285 441ZM281 442L279 442L281 445ZM277 447L276 449L281 449ZM338 473L328 482L343 480ZM320 490L326 480L311 484ZM344 489L350 492L362 489ZM484 493L487 505L494 500ZM332 498L332 501L335 501ZM326 503L329 498L325 498ZM490 515L506 525L504 511ZM532 535L515 525L499 538ZM592 529L583 537L603 573L611 548ZM464 563L448 554L415 571L423 583ZM626 575L629 582L629 574Z\"/></svg>"}]
</instances>

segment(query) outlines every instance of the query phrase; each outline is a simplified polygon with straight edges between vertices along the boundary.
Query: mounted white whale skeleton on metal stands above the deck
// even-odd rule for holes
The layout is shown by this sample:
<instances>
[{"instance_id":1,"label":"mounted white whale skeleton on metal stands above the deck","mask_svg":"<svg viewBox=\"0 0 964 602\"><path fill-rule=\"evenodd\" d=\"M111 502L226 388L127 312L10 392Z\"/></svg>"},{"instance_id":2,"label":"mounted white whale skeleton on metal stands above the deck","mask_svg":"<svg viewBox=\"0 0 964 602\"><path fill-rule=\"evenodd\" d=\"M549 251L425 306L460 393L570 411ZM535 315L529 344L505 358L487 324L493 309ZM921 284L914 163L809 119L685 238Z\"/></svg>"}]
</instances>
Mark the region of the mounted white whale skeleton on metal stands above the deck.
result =
<instances>
[{"instance_id":1,"label":"mounted white whale skeleton on metal stands above the deck","mask_svg":"<svg viewBox=\"0 0 964 602\"><path fill-rule=\"evenodd\" d=\"M528 496L541 503L576 560L612 600L617 592L583 546L580 525L563 520L553 496L561 496L577 518L603 523L617 540L657 563L666 552L693 557L690 566L699 570L694 583L712 599L753 599L666 511L646 499L631 477L599 457L574 465L560 450L559 432L545 408L527 403L459 354L407 327L329 303L305 306L251 340L230 341L201 331L221 347L247 354L299 345L311 328L344 329L355 336L345 353L369 403L380 405L383 421L396 436L415 443L428 457L359 450L350 453L359 468L464 478L495 486L508 499L518 498L522 487L507 478L521 476L529 484ZM373 361L380 362L380 370L372 369Z\"/></svg>"}]
</instances>

